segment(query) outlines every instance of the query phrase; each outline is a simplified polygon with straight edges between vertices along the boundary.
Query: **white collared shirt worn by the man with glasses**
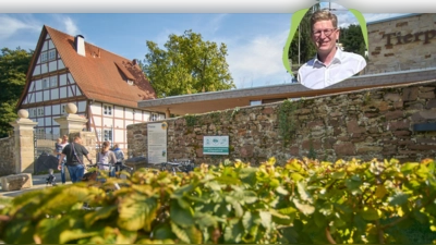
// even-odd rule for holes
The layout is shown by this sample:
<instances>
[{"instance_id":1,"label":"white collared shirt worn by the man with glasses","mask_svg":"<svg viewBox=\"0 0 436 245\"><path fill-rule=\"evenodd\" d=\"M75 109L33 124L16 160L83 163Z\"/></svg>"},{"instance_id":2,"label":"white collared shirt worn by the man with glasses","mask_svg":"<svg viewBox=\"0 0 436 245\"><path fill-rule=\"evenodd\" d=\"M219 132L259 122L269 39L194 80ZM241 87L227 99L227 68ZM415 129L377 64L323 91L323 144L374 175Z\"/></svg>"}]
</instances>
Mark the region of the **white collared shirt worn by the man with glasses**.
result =
<instances>
[{"instance_id":1,"label":"white collared shirt worn by the man with glasses","mask_svg":"<svg viewBox=\"0 0 436 245\"><path fill-rule=\"evenodd\" d=\"M365 59L356 53L337 48L329 65L325 65L315 56L299 69L299 82L312 89L322 89L347 79L366 66Z\"/></svg>"}]
</instances>

